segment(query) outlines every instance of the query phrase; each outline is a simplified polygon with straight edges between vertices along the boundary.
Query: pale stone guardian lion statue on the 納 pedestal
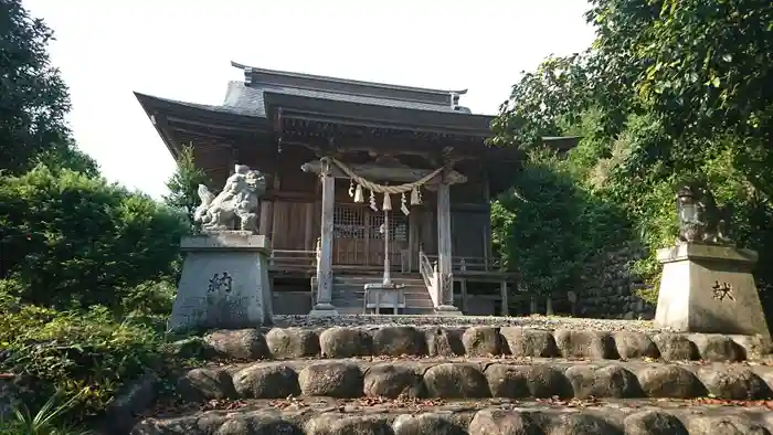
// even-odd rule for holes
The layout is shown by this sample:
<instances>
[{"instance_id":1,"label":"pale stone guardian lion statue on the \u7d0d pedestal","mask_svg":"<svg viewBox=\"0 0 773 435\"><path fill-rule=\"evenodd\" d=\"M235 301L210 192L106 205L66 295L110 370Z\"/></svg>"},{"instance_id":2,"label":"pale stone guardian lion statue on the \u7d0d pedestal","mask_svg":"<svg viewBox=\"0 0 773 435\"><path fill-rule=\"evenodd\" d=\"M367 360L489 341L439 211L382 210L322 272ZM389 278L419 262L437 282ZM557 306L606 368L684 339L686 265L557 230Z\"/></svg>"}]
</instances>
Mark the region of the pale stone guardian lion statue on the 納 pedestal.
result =
<instances>
[{"instance_id":1,"label":"pale stone guardian lion statue on the \u7d0d pedestal","mask_svg":"<svg viewBox=\"0 0 773 435\"><path fill-rule=\"evenodd\" d=\"M266 191L265 177L244 165L236 165L234 173L225 180L225 187L212 194L207 185L199 184L201 205L195 209L193 220L201 222L205 232L227 231L239 219L239 229L256 232L257 204Z\"/></svg>"}]
</instances>

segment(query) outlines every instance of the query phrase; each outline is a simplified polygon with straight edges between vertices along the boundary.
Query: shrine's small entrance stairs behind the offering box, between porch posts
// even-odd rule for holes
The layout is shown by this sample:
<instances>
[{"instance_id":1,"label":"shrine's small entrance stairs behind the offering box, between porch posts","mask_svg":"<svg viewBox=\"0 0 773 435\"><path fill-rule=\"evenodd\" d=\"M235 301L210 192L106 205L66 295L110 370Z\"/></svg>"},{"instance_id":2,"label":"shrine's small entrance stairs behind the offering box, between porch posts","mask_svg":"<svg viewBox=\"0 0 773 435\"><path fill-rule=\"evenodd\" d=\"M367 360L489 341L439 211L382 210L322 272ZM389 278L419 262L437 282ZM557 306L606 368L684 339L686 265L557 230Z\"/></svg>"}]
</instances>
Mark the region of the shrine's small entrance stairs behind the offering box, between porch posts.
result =
<instances>
[{"instance_id":1,"label":"shrine's small entrance stairs behind the offering box, between porch posts","mask_svg":"<svg viewBox=\"0 0 773 435\"><path fill-rule=\"evenodd\" d=\"M380 283L383 275L345 275L337 274L332 284L332 305L340 315L361 315L364 301L364 285ZM434 306L430 293L420 274L392 274L392 280L403 284L405 308L400 310L404 315L431 315ZM382 311L391 309L382 308ZM369 312L372 310L369 310Z\"/></svg>"}]
</instances>

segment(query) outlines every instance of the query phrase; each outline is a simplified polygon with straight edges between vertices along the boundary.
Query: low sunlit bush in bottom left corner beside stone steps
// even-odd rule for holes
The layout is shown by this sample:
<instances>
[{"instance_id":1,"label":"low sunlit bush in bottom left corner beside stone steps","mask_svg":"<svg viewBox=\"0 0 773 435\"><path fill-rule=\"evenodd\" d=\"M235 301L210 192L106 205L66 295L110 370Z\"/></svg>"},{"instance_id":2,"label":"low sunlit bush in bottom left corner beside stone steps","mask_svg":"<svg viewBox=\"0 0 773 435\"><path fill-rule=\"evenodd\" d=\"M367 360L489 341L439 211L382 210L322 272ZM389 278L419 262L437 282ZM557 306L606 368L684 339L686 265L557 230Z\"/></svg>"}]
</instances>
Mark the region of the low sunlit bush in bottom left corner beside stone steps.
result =
<instances>
[{"instance_id":1,"label":"low sunlit bush in bottom left corner beside stone steps","mask_svg":"<svg viewBox=\"0 0 773 435\"><path fill-rule=\"evenodd\" d=\"M38 407L52 395L77 397L68 420L97 415L124 382L159 367L160 336L150 327L117 321L105 307L56 311L31 305L0 308L0 369L21 376L21 400Z\"/></svg>"}]
</instances>

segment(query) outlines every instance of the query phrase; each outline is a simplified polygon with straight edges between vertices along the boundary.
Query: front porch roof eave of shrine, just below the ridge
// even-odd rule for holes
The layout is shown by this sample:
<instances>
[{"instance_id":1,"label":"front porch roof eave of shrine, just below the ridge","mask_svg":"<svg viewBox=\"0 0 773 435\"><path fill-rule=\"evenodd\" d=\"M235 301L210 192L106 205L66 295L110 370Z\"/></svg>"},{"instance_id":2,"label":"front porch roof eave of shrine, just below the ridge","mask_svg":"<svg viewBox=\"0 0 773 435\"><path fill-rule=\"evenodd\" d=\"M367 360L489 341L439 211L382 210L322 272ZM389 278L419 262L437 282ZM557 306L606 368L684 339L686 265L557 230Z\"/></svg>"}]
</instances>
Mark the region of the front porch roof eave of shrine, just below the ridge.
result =
<instances>
[{"instance_id":1,"label":"front porch roof eave of shrine, just below the ridge","mask_svg":"<svg viewBox=\"0 0 773 435\"><path fill-rule=\"evenodd\" d=\"M283 117L487 138L493 117L453 112L386 107L264 92L266 113Z\"/></svg>"}]
</instances>

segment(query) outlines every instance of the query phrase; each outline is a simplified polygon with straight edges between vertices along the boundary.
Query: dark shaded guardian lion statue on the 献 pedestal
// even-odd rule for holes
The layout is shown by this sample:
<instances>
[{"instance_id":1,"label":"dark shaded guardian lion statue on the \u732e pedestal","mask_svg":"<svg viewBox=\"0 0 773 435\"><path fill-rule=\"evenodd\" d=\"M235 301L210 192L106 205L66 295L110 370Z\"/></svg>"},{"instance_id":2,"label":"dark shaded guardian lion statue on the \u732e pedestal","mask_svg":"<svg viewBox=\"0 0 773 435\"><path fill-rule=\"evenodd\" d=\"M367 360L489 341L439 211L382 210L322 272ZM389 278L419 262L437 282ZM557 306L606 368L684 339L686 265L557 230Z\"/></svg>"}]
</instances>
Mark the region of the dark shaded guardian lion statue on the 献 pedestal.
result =
<instances>
[{"instance_id":1,"label":"dark shaded guardian lion statue on the \u732e pedestal","mask_svg":"<svg viewBox=\"0 0 773 435\"><path fill-rule=\"evenodd\" d=\"M677 190L679 243L732 245L729 235L732 204L717 205L714 195L702 183L684 183Z\"/></svg>"}]
</instances>

